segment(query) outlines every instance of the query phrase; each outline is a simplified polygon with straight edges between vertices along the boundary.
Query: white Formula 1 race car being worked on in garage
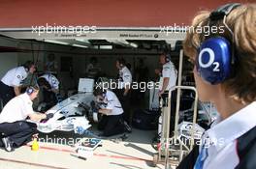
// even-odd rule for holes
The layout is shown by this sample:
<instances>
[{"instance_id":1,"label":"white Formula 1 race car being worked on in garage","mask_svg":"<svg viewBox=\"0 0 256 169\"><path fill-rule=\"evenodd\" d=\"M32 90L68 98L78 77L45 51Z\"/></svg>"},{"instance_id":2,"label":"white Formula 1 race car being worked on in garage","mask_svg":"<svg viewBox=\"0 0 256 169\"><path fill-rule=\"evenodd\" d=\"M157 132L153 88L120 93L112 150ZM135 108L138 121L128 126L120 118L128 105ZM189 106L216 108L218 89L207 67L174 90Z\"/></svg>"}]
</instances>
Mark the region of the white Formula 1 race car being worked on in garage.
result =
<instances>
[{"instance_id":1,"label":"white Formula 1 race car being worked on in garage","mask_svg":"<svg viewBox=\"0 0 256 169\"><path fill-rule=\"evenodd\" d=\"M53 118L38 124L41 132L53 130L71 131L77 127L87 129L91 127L88 118L90 113L89 103L93 100L92 93L77 94L65 99L50 108L46 113L53 113Z\"/></svg>"}]
</instances>

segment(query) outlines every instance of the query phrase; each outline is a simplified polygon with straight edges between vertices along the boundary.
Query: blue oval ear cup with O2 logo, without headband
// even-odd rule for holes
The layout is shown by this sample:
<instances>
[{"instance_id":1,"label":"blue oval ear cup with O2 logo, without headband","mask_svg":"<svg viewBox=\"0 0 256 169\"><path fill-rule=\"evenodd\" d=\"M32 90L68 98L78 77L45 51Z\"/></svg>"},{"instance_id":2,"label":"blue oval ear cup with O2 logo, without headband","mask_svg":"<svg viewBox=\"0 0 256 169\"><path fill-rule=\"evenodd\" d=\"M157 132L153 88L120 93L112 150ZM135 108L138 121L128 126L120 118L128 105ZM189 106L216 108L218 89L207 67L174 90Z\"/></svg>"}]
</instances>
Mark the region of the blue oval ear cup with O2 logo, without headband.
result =
<instances>
[{"instance_id":1,"label":"blue oval ear cup with O2 logo, without headband","mask_svg":"<svg viewBox=\"0 0 256 169\"><path fill-rule=\"evenodd\" d=\"M210 84L225 81L231 75L232 51L230 42L223 37L210 38L200 46L196 68Z\"/></svg>"}]
</instances>

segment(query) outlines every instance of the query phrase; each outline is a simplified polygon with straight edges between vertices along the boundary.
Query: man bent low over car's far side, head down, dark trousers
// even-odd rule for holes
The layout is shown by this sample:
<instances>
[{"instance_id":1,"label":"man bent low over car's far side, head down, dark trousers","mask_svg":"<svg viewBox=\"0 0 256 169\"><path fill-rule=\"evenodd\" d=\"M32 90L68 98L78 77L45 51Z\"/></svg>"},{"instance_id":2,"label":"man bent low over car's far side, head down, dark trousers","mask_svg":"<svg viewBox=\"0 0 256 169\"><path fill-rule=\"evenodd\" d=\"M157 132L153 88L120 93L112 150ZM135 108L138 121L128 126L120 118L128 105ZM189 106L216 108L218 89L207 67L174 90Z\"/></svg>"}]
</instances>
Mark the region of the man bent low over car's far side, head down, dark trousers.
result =
<instances>
[{"instance_id":1,"label":"man bent low over car's far side, head down, dark trousers","mask_svg":"<svg viewBox=\"0 0 256 169\"><path fill-rule=\"evenodd\" d=\"M41 106L44 105L44 110L48 110L48 108L55 105L58 102L58 98L60 98L59 81L53 74L46 73L38 78L37 83L43 93L43 99L39 100L39 104L41 104ZM43 109L40 110L43 111Z\"/></svg>"}]
</instances>

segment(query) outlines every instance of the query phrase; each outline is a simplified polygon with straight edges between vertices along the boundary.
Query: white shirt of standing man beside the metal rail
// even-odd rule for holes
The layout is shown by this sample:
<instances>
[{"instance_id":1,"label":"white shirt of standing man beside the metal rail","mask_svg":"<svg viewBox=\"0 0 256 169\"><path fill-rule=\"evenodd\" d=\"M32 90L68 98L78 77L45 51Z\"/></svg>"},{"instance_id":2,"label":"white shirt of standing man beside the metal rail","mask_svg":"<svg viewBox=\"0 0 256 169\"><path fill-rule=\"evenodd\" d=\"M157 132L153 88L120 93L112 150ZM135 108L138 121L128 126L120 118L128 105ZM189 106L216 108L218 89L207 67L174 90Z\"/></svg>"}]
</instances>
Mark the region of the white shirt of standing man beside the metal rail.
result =
<instances>
[{"instance_id":1,"label":"white shirt of standing man beside the metal rail","mask_svg":"<svg viewBox=\"0 0 256 169\"><path fill-rule=\"evenodd\" d=\"M169 78L169 84L166 88L166 91L170 90L171 88L176 86L176 68L175 65L170 61L163 65L163 70L162 70L162 77L160 78L160 90L163 88L163 82L164 78L168 77Z\"/></svg>"}]
</instances>

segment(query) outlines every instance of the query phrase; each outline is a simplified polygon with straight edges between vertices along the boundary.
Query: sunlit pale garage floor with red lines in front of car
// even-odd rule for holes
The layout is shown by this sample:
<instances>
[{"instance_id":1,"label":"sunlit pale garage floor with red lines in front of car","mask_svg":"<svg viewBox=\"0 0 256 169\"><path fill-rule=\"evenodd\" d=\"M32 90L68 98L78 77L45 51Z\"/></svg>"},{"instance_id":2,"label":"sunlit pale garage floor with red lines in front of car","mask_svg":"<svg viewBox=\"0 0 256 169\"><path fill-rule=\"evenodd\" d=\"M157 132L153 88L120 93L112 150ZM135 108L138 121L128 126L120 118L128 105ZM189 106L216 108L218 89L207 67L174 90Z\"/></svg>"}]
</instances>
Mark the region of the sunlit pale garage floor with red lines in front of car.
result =
<instances>
[{"instance_id":1,"label":"sunlit pale garage floor with red lines in front of car","mask_svg":"<svg viewBox=\"0 0 256 169\"><path fill-rule=\"evenodd\" d=\"M91 130L97 133L94 128ZM74 153L74 148L70 146L73 141L58 140L58 138L78 138L80 135L60 131L54 131L49 135L40 134L40 149L37 152L31 151L29 145L22 146L13 153L0 150L0 168L162 169L164 166L161 164L151 167L152 155L155 151L150 143L155 132L133 129L124 141L120 140L121 135L106 138L103 140L103 146L98 147L94 155L86 160L71 155Z\"/></svg>"}]
</instances>

